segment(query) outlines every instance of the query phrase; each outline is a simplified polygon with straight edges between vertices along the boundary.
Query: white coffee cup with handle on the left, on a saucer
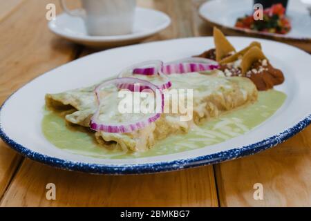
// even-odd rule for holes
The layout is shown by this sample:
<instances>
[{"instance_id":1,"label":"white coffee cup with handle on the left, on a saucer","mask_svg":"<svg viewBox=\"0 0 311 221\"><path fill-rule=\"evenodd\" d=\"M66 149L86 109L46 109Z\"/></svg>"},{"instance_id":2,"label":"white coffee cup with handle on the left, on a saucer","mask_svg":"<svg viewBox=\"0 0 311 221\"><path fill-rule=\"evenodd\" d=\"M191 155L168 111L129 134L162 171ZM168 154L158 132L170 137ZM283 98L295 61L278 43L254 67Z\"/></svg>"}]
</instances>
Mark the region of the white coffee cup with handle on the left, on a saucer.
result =
<instances>
[{"instance_id":1,"label":"white coffee cup with handle on the left, on a saucer","mask_svg":"<svg viewBox=\"0 0 311 221\"><path fill-rule=\"evenodd\" d=\"M80 0L82 10L68 10L66 0L61 0L64 11L82 17L88 35L126 35L133 31L136 0Z\"/></svg>"}]
</instances>

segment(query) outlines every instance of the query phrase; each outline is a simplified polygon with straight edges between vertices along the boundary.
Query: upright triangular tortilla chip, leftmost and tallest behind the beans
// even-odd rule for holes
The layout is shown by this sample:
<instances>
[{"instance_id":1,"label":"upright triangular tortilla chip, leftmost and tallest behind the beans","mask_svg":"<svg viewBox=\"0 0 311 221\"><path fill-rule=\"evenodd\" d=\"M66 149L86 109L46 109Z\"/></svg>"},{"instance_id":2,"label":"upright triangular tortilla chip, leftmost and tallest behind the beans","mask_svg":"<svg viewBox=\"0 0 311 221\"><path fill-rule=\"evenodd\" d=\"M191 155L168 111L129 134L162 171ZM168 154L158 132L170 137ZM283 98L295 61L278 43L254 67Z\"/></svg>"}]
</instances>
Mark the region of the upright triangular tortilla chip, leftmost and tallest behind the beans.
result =
<instances>
[{"instance_id":1,"label":"upright triangular tortilla chip, leftmost and tallest behind the beans","mask_svg":"<svg viewBox=\"0 0 311 221\"><path fill-rule=\"evenodd\" d=\"M216 47L216 61L220 61L230 53L236 52L234 46L232 46L225 35L223 35L223 32L221 32L218 28L214 28L213 35Z\"/></svg>"}]
</instances>

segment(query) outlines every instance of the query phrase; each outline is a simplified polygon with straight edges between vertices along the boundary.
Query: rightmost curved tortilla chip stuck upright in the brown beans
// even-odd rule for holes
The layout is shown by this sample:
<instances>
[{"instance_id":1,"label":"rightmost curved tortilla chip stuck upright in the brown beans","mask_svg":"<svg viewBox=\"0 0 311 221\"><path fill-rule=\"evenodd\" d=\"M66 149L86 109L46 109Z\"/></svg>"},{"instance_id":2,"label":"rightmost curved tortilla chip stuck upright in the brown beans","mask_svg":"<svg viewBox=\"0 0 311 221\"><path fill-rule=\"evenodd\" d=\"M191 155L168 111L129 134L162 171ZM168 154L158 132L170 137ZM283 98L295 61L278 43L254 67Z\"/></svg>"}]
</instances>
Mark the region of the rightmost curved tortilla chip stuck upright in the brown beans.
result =
<instances>
[{"instance_id":1,"label":"rightmost curved tortilla chip stuck upright in the brown beans","mask_svg":"<svg viewBox=\"0 0 311 221\"><path fill-rule=\"evenodd\" d=\"M242 69L242 75L245 75L247 71L251 68L252 64L255 61L267 59L265 55L263 54L263 51L258 48L257 46L254 46L247 50L245 55L243 55L242 62L241 62L241 69Z\"/></svg>"}]
</instances>

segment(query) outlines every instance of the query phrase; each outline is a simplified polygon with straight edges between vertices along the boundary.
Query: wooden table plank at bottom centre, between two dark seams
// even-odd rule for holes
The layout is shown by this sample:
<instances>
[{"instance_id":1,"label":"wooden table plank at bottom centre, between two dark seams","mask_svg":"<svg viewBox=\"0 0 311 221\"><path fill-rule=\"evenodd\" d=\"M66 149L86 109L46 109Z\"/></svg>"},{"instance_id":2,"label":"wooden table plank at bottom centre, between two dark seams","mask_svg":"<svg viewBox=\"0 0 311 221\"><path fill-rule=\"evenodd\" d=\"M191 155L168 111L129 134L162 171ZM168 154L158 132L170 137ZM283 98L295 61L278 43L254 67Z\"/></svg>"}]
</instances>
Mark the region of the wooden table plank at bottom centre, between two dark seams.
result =
<instances>
[{"instance_id":1,"label":"wooden table plank at bottom centre, between two dark seams","mask_svg":"<svg viewBox=\"0 0 311 221\"><path fill-rule=\"evenodd\" d=\"M56 200L46 200L46 184ZM88 175L25 160L1 206L217 206L212 166L153 175Z\"/></svg>"}]
</instances>

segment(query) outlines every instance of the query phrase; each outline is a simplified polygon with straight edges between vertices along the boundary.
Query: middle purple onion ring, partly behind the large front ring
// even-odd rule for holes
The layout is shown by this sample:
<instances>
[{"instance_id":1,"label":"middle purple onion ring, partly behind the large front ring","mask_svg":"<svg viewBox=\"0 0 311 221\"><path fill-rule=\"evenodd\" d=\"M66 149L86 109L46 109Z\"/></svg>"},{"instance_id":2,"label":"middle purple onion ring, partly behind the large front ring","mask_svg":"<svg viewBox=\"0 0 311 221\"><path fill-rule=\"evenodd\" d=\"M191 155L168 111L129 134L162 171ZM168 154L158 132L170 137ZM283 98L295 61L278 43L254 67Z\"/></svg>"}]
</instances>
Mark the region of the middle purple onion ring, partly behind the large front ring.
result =
<instances>
[{"instance_id":1,"label":"middle purple onion ring, partly behind the large front ring","mask_svg":"<svg viewBox=\"0 0 311 221\"><path fill-rule=\"evenodd\" d=\"M158 77L162 79L163 84L157 86L161 90L164 90L171 87L171 81L166 75L162 73L162 67L162 61L145 61L140 64L134 64L129 68L125 68L122 70L118 77L133 77L133 75L158 75ZM127 84L127 86L129 90L133 89L133 85Z\"/></svg>"}]
</instances>

